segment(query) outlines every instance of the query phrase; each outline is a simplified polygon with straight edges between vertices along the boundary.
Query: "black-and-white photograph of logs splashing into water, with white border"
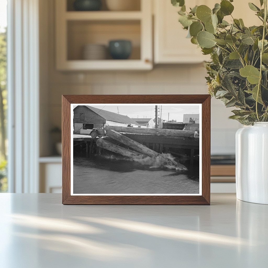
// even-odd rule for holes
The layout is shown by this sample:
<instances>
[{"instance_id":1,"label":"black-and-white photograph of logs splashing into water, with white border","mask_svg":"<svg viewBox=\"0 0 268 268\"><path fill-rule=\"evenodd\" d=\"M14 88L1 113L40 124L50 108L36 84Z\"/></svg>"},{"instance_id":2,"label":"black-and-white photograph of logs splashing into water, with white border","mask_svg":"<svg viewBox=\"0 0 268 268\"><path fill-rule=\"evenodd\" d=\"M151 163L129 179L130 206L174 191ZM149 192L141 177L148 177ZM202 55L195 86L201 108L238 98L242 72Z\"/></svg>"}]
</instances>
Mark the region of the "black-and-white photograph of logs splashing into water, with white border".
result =
<instances>
[{"instance_id":1,"label":"black-and-white photograph of logs splashing into water, with white border","mask_svg":"<svg viewBox=\"0 0 268 268\"><path fill-rule=\"evenodd\" d=\"M71 104L71 195L200 195L201 104Z\"/></svg>"}]
</instances>

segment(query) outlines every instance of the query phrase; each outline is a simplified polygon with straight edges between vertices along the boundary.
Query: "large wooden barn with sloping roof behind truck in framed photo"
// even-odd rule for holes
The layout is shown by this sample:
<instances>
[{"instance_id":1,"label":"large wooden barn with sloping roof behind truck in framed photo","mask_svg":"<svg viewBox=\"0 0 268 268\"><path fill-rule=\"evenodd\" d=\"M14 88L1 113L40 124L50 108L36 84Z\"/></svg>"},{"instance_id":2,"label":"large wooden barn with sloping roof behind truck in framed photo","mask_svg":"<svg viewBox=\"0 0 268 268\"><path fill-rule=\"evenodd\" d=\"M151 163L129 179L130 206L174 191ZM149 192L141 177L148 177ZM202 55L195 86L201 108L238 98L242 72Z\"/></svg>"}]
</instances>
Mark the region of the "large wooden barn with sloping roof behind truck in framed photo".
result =
<instances>
[{"instance_id":1,"label":"large wooden barn with sloping roof behind truck in framed photo","mask_svg":"<svg viewBox=\"0 0 268 268\"><path fill-rule=\"evenodd\" d=\"M80 134L81 129L93 129L107 126L138 126L128 116L105 111L87 105L79 105L73 109L74 133Z\"/></svg>"}]
</instances>

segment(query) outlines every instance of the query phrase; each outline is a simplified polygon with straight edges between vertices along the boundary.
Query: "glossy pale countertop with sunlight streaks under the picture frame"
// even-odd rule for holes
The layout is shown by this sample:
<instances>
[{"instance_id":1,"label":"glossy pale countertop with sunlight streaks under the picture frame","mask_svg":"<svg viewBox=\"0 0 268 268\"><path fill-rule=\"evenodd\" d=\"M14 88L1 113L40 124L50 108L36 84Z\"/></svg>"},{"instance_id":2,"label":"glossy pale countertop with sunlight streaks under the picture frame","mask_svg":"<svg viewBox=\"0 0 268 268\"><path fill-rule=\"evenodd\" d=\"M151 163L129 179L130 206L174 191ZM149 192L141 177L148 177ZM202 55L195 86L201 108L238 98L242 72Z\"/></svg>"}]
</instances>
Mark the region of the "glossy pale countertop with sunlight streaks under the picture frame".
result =
<instances>
[{"instance_id":1,"label":"glossy pale countertop with sunlight streaks under the picture frame","mask_svg":"<svg viewBox=\"0 0 268 268\"><path fill-rule=\"evenodd\" d=\"M0 194L1 268L267 267L268 205L64 206L60 194Z\"/></svg>"}]
</instances>

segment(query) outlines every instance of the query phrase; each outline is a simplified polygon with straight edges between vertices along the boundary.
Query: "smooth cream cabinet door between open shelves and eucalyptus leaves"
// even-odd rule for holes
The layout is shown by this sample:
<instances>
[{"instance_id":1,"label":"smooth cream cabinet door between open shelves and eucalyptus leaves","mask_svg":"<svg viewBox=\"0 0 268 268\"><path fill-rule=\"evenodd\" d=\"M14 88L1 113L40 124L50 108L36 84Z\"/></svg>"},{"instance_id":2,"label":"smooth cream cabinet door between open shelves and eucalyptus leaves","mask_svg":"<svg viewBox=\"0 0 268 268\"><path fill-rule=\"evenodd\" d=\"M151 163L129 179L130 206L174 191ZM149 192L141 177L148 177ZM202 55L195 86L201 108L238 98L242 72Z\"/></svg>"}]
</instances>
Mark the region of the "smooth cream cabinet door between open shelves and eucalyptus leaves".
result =
<instances>
[{"instance_id":1,"label":"smooth cream cabinet door between open shelves and eucalyptus leaves","mask_svg":"<svg viewBox=\"0 0 268 268\"><path fill-rule=\"evenodd\" d=\"M211 3L209 4L209 2ZM195 5L213 6L215 0L185 1L187 10ZM178 22L180 7L174 7L170 0L154 0L154 61L155 63L196 63L209 60L201 49L186 38L185 31Z\"/></svg>"}]
</instances>

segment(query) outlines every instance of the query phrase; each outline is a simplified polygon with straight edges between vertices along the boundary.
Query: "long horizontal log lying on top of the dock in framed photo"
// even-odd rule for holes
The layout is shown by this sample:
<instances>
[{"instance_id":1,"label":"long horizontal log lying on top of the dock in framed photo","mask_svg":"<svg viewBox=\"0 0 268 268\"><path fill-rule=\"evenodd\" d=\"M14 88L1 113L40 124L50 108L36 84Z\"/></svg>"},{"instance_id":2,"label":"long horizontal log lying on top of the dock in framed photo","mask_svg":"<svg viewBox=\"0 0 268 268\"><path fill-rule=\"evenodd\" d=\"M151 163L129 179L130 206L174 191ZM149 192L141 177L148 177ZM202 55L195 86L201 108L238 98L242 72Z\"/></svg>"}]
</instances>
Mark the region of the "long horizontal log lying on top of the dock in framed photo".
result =
<instances>
[{"instance_id":1,"label":"long horizontal log lying on top of the dock in framed photo","mask_svg":"<svg viewBox=\"0 0 268 268\"><path fill-rule=\"evenodd\" d=\"M144 135L162 135L176 137L195 137L195 131L192 130L177 130L177 129L161 129L161 128L131 128L127 126L105 126L106 132L114 130L116 132L134 133Z\"/></svg>"}]
</instances>

